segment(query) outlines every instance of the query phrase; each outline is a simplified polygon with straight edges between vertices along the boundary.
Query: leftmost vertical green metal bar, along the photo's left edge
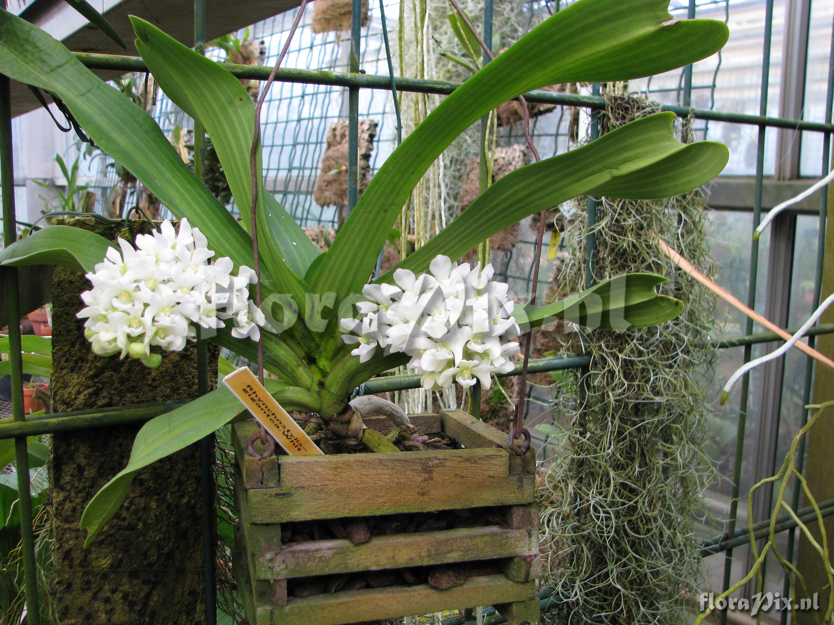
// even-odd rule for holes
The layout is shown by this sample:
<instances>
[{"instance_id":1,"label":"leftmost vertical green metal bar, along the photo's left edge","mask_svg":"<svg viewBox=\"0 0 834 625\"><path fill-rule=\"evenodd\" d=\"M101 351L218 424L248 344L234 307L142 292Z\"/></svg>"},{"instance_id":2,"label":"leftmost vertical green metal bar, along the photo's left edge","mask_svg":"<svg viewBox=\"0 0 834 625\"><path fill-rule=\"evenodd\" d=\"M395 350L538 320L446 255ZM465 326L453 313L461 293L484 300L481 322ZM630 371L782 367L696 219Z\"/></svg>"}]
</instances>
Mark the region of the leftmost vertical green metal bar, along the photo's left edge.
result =
<instances>
[{"instance_id":1,"label":"leftmost vertical green metal bar, along the photo's left edge","mask_svg":"<svg viewBox=\"0 0 834 625\"><path fill-rule=\"evenodd\" d=\"M3 2L3 7L6 2ZM0 179L3 188L3 244L9 246L17 238L14 208L14 162L12 140L12 95L7 76L0 75ZM20 306L18 300L18 269L4 268L6 273L6 312L8 317L8 358L11 363L12 418L14 423L25 419L23 414L23 357L20 343ZM26 595L27 623L40 625L38 599L38 564L32 522L32 497L29 489L29 453L25 436L14 440L18 460L18 510L20 542L23 554L23 582Z\"/></svg>"}]
</instances>

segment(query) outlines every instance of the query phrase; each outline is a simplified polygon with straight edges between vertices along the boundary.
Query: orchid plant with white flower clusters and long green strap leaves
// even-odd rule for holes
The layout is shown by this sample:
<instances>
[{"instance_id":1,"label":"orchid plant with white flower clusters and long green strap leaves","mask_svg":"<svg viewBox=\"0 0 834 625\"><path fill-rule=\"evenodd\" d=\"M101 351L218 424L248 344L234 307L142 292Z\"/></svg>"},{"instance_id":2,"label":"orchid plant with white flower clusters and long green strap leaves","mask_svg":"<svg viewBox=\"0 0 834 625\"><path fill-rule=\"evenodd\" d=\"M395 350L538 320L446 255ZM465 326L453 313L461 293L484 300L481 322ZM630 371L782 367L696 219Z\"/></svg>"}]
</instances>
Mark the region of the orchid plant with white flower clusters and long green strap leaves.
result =
<instances>
[{"instance_id":1,"label":"orchid plant with white flower clusters and long green strap leaves","mask_svg":"<svg viewBox=\"0 0 834 625\"><path fill-rule=\"evenodd\" d=\"M351 418L348 404L354 388L404 364L419 367L430 387L451 383L453 378L462 384L480 378L486 384L489 373L509 371L514 364L511 356L516 348L510 339L522 330L557 318L625 330L663 323L681 312L678 300L656 293L664 278L651 274L613 278L545 306L516 303L514 307L505 287L490 281L490 268L452 263L501 229L578 195L666 198L715 177L726 164L726 148L718 143L678 142L671 112L644 117L584 147L506 175L424 247L391 272L370 279L391 224L431 163L502 102L555 83L623 81L670 71L710 56L726 42L724 23L679 22L667 12L667 5L668 0L579 0L533 29L446 97L404 139L324 253L264 190L259 151L255 155L259 186L254 186L249 161L254 106L243 85L227 71L229 66L131 18L136 46L159 87L206 128L237 205L249 207L253 187L260 189L254 214L263 294L260 313L268 325L259 333L264 368L279 378L270 390L284 408L316 413L324 423L344 423ZM241 223L235 221L183 163L152 117L95 77L60 42L7 12L0 12L0 72L63 100L90 138L181 220L177 237L183 242L188 240L187 219L195 247L183 243L177 248L178 243L173 243L173 256L192 254L202 263L208 258L198 249L208 245L229 259L214 265L197 263L194 277L200 275L200 283L179 287L178 278L171 278L173 283L156 281L156 292L148 282L154 280L152 268L137 274L135 283L144 283L137 287L138 293L145 294L133 298L135 313L132 309L127 323L131 326L135 320L137 337L140 329L143 337L149 332L139 328L144 318L139 306L156 310L158 293L168 293L168 288L173 292L174 285L191 289L189 293L197 291L187 296L188 303L186 293L166 300L166 310L173 313L183 306L178 311L192 323L203 318L188 308L196 301L209 306L206 310L223 308L212 293L212 280L214 284L218 280L215 272L231 276L236 268L238 277L229 280L235 285L240 281L243 288L249 277L246 268L254 266L249 215L242 215ZM193 228L201 233L199 237ZM168 242L173 235L168 230L162 236ZM144 245L165 247L156 236L153 242L144 239L137 244L136 254L143 253ZM118 273L119 263L133 258L133 248L123 244L122 258L109 248L115 246L95 233L50 226L10 246L0 255L0 263L62 264L85 273L98 273L96 266L104 263L106 271ZM169 254L167 248L164 253ZM106 288L91 281L93 292ZM91 295L89 301L101 308L98 295ZM246 306L247 315L258 316ZM90 319L99 314L88 313ZM224 321L222 317L218 313L219 321ZM253 333L254 329L246 319L236 319L215 323L211 339L254 361L256 343L240 338L242 333L251 336L245 328ZM118 338L113 343L95 323L90 330L97 333L100 349L121 353L125 343L120 345ZM182 330L182 320L179 323ZM187 336L188 329L185 332ZM148 344L153 346L153 338ZM139 358L154 353L144 347L133 349ZM134 355L130 350L128 346L128 354ZM239 403L221 386L148 422L138 434L128 467L88 505L82 520L88 540L121 505L139 469L198 441L239 413ZM383 445L375 450L392 449Z\"/></svg>"}]
</instances>

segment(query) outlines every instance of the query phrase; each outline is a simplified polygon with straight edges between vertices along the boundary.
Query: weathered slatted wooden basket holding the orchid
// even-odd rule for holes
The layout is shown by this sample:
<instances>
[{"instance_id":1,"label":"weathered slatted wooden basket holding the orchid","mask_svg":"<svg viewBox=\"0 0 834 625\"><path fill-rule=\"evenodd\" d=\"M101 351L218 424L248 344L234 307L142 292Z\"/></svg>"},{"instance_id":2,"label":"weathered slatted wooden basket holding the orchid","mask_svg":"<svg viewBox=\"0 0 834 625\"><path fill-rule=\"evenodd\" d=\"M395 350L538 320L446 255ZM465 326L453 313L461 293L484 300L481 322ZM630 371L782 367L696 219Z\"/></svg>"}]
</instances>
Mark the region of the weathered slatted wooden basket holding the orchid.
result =
<instances>
[{"instance_id":1,"label":"weathered slatted wooden basket holding the orchid","mask_svg":"<svg viewBox=\"0 0 834 625\"><path fill-rule=\"evenodd\" d=\"M343 625L485 605L495 605L510 625L538 622L533 451L517 456L504 433L461 411L411 421L421 433L442 431L463 448L261 462L246 453L256 424L235 424L234 577L253 625ZM365 423L382 433L392 428L386 418ZM469 508L484 507L497 512L480 527L393 533L359 545L281 541L281 523L453 510L474 515ZM458 564L472 576L447 590L416 583L288 597L288 581L299 578Z\"/></svg>"}]
</instances>

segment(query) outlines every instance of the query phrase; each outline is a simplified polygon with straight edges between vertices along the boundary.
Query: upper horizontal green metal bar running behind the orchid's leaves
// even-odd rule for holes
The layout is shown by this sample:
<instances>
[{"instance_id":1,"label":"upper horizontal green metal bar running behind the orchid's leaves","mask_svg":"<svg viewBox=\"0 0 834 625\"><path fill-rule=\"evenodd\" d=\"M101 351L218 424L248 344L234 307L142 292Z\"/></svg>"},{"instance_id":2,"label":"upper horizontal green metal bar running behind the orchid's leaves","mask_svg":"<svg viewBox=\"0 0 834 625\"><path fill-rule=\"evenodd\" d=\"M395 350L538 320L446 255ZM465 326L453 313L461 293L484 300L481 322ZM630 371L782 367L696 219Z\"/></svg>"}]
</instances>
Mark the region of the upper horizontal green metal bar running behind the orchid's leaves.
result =
<instances>
[{"instance_id":1,"label":"upper horizontal green metal bar running behind the orchid's leaves","mask_svg":"<svg viewBox=\"0 0 834 625\"><path fill-rule=\"evenodd\" d=\"M148 67L140 57L121 57L113 54L92 54L90 52L73 52L84 65L91 69L112 69L121 72L147 72ZM259 65L235 65L224 63L224 67L235 77L248 78L249 80L266 80L269 77L271 67ZM391 79L389 76L376 74L353 74L349 72L325 72L323 70L281 68L275 80L279 82L300 82L304 84L334 85L337 87L359 87L363 89L384 89L390 91ZM426 80L423 78L394 79L399 91L418 93L438 93L449 95L460 87L460 82L448 82L443 80ZM544 104L557 104L566 107L604 108L605 98L594 96L581 96L573 93L553 93L544 91L533 91L523 94L528 102L541 102ZM660 110L674 112L679 117L695 117L711 122L740 123L752 126L764 126L766 128L791 128L794 130L808 130L816 133L834 133L834 125L821 122L807 122L796 119L783 119L781 117L766 117L761 115L746 115L738 112L711 111L706 108L689 108L681 106L666 105Z\"/></svg>"}]
</instances>

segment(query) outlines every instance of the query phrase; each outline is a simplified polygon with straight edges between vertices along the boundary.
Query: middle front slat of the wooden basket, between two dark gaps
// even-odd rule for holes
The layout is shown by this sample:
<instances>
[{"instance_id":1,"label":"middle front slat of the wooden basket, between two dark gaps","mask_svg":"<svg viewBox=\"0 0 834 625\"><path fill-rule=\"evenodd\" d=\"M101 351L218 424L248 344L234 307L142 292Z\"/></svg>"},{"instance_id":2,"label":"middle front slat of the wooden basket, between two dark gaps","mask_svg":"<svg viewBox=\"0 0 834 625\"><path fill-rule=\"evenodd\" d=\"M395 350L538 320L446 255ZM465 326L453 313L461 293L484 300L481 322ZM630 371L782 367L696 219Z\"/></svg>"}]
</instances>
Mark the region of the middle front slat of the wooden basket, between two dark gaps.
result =
<instances>
[{"instance_id":1,"label":"middle front slat of the wooden basket, between two dark gaps","mask_svg":"<svg viewBox=\"0 0 834 625\"><path fill-rule=\"evenodd\" d=\"M260 549L257 543L247 547ZM299 542L278 552L259 551L261 555L254 558L254 574L259 579L310 577L525 556L537 553L538 549L538 533L531 529L465 527L377 536L355 547L348 540Z\"/></svg>"}]
</instances>

